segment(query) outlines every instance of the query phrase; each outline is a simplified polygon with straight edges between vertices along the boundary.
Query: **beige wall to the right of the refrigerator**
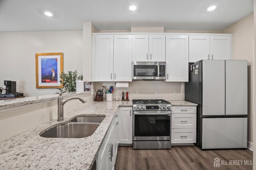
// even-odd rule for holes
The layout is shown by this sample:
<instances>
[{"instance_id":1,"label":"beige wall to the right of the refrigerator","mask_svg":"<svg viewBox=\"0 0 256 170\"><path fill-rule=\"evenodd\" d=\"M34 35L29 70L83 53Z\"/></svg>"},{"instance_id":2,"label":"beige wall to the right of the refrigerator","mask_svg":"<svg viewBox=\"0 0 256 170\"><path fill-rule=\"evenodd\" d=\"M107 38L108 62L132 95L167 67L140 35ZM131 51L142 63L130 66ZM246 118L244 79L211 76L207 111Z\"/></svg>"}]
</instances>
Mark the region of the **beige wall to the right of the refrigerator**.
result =
<instances>
[{"instance_id":1,"label":"beige wall to the right of the refrigerator","mask_svg":"<svg viewBox=\"0 0 256 170\"><path fill-rule=\"evenodd\" d=\"M233 59L248 60L248 141L252 142L253 130L253 41L254 19L253 13L223 30L233 36Z\"/></svg>"}]
</instances>

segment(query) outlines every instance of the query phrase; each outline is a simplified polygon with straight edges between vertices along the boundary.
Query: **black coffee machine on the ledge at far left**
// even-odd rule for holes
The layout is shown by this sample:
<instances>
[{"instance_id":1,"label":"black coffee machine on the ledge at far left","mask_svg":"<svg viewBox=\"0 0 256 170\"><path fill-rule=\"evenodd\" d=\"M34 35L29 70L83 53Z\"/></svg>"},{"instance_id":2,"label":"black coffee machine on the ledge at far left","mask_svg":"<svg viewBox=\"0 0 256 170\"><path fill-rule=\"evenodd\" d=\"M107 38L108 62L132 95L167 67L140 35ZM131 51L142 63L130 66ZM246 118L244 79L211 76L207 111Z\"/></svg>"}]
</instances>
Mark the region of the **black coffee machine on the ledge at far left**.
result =
<instances>
[{"instance_id":1,"label":"black coffee machine on the ledge at far left","mask_svg":"<svg viewBox=\"0 0 256 170\"><path fill-rule=\"evenodd\" d=\"M16 92L16 81L4 80L4 85L6 86L5 94L0 94L0 98L2 97L20 97L23 96L23 93ZM2 93L2 91L1 91Z\"/></svg>"}]
</instances>

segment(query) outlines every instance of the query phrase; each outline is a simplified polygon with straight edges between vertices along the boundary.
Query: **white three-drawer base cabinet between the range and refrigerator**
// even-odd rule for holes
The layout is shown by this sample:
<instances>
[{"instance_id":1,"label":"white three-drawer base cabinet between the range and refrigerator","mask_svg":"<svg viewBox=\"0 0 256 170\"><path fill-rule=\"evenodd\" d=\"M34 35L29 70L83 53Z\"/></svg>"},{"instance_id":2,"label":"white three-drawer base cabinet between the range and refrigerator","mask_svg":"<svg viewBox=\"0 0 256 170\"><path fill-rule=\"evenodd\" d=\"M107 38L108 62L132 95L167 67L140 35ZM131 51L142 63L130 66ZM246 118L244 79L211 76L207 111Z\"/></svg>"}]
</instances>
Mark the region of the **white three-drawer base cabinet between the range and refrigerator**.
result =
<instances>
[{"instance_id":1,"label":"white three-drawer base cabinet between the range and refrigerator","mask_svg":"<svg viewBox=\"0 0 256 170\"><path fill-rule=\"evenodd\" d=\"M196 143L196 106L172 107L172 144Z\"/></svg>"}]
</instances>

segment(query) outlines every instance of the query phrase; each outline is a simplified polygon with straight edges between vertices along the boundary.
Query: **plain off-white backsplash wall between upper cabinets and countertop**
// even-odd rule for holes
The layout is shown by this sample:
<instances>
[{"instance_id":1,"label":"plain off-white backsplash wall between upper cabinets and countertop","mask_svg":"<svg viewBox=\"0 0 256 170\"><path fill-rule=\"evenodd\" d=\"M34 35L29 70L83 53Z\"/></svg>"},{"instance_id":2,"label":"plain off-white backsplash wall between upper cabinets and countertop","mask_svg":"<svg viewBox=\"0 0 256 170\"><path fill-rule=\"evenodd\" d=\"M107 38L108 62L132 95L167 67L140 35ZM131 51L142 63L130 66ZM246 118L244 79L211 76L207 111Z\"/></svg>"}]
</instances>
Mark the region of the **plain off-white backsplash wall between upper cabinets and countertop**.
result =
<instances>
[{"instance_id":1,"label":"plain off-white backsplash wall between upper cabinets and countertop","mask_svg":"<svg viewBox=\"0 0 256 170\"><path fill-rule=\"evenodd\" d=\"M182 82L162 82L162 81L132 81L127 88L116 88L115 82L96 82L96 91L106 87L114 87L114 99L122 99L122 92L128 91L129 99L165 99L184 100L184 83ZM177 94L174 95L174 90ZM124 95L125 99L126 94Z\"/></svg>"}]
</instances>

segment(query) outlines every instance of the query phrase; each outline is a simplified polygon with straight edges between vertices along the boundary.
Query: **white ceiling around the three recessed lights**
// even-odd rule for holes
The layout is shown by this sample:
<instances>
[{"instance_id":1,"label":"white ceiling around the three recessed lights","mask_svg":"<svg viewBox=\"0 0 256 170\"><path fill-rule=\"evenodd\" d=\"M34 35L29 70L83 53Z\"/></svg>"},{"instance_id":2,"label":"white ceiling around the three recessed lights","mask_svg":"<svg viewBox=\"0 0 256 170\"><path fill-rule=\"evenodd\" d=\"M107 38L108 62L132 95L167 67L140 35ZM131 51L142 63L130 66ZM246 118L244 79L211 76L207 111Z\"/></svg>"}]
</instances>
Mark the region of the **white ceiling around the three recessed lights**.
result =
<instances>
[{"instance_id":1,"label":"white ceiling around the three recessed lights","mask_svg":"<svg viewBox=\"0 0 256 170\"><path fill-rule=\"evenodd\" d=\"M0 0L0 32L82 30L84 21L97 30L222 30L252 12L253 0Z\"/></svg>"}]
</instances>

